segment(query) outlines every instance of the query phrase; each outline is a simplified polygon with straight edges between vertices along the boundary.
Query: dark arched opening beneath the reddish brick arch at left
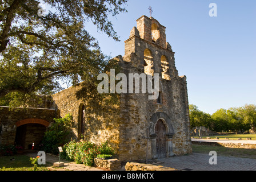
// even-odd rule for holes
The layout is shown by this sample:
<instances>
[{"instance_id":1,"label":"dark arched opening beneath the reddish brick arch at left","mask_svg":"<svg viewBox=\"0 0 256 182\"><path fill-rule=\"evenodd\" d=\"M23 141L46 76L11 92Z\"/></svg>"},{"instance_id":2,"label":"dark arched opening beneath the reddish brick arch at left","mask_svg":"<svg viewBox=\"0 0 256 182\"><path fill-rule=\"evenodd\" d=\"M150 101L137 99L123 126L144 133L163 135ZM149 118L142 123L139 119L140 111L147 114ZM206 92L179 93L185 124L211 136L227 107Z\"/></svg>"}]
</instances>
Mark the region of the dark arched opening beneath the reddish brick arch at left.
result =
<instances>
[{"instance_id":1,"label":"dark arched opening beneath the reddish brick arch at left","mask_svg":"<svg viewBox=\"0 0 256 182\"><path fill-rule=\"evenodd\" d=\"M22 146L25 150L38 150L39 144L45 135L46 126L38 123L28 123L17 127L15 144Z\"/></svg>"}]
</instances>

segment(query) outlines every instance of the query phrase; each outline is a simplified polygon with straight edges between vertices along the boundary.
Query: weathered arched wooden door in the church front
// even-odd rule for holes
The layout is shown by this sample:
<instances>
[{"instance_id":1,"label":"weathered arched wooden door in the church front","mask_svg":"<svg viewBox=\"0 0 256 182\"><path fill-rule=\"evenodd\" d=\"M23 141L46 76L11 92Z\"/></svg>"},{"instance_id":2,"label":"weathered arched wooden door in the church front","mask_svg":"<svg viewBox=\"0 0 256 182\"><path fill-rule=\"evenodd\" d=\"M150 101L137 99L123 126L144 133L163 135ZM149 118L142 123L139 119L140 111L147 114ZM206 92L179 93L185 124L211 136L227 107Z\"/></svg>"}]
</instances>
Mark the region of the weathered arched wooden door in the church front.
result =
<instances>
[{"instance_id":1,"label":"weathered arched wooden door in the church front","mask_svg":"<svg viewBox=\"0 0 256 182\"><path fill-rule=\"evenodd\" d=\"M155 134L157 134L157 156L158 158L166 158L166 127L161 119L155 125Z\"/></svg>"}]
</instances>

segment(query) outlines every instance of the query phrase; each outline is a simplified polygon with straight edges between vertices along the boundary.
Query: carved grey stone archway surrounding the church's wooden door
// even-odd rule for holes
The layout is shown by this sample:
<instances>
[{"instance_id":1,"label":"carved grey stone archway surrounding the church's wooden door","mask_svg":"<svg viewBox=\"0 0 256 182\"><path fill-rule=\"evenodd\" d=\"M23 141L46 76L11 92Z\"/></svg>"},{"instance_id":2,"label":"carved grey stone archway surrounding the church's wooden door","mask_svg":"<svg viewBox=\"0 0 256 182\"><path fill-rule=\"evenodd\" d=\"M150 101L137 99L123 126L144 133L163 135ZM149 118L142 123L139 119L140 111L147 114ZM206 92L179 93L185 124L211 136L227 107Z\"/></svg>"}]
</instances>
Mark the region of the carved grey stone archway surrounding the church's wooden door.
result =
<instances>
[{"instance_id":1,"label":"carved grey stone archway surrounding the church's wooden door","mask_svg":"<svg viewBox=\"0 0 256 182\"><path fill-rule=\"evenodd\" d=\"M161 134L159 134L159 130L156 131L158 127L162 128L162 129L159 129ZM171 125L170 117L167 114L160 113L160 112L153 114L152 117L150 118L148 130L149 130L148 131L149 137L151 139L152 158L158 159L158 158L165 158L166 156L173 156L174 129L173 129L173 126ZM162 139L159 139L159 138L162 138ZM159 144L159 142L162 144ZM160 149L160 151L159 151L159 146L162 148Z\"/></svg>"}]
</instances>

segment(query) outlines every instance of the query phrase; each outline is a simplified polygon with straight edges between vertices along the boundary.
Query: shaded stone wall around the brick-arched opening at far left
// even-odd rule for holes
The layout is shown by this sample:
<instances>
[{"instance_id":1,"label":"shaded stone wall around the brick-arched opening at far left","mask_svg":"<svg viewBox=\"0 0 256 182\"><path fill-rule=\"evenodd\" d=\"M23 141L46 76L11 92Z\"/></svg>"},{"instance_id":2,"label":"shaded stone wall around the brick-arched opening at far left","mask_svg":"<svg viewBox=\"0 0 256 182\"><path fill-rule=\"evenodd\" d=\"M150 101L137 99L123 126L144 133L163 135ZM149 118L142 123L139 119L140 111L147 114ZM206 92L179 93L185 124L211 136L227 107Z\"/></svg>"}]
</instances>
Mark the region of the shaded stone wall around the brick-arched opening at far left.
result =
<instances>
[{"instance_id":1,"label":"shaded stone wall around the brick-arched opening at far left","mask_svg":"<svg viewBox=\"0 0 256 182\"><path fill-rule=\"evenodd\" d=\"M17 131L17 124L27 119L27 121L23 123L27 125L29 123L33 123L33 121L37 121L36 119L42 119L45 122L53 122L55 115L54 109L36 109L36 108L14 108L10 109L10 107L0 106L0 144L14 144L16 131ZM41 121L41 120L39 120ZM38 122L40 123L40 122ZM34 122L36 125L37 122ZM18 125L19 126L19 125ZM22 125L23 126L23 125ZM40 128L40 127L38 127ZM45 127L46 129L46 127ZM41 129L40 129L41 130ZM27 141L30 139L38 140L38 131L35 126L28 126L27 133L29 135L24 136L27 138ZM40 132L41 133L41 132ZM36 138L34 138L34 137ZM30 141L32 142L32 141ZM32 142L33 143L33 142ZM31 144L32 144L31 143ZM26 143L27 148L28 143Z\"/></svg>"}]
</instances>

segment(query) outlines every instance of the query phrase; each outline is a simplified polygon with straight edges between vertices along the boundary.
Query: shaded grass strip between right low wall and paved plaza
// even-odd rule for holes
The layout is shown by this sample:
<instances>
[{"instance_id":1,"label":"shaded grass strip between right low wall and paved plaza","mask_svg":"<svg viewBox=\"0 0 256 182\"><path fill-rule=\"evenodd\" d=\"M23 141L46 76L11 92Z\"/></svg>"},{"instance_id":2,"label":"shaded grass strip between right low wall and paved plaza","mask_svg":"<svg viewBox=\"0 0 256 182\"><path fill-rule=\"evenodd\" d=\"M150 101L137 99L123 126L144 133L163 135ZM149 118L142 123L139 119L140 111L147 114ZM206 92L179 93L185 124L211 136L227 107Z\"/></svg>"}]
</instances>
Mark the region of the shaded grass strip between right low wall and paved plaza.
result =
<instances>
[{"instance_id":1,"label":"shaded grass strip between right low wall and paved plaza","mask_svg":"<svg viewBox=\"0 0 256 182\"><path fill-rule=\"evenodd\" d=\"M192 150L195 153L209 154L210 151L216 151L218 155L256 159L255 149L227 148L227 147L221 147L221 146L205 146L205 145L193 144Z\"/></svg>"}]
</instances>

